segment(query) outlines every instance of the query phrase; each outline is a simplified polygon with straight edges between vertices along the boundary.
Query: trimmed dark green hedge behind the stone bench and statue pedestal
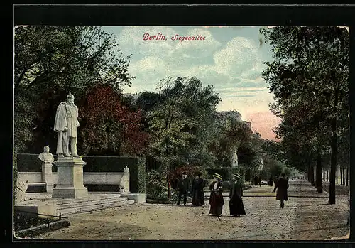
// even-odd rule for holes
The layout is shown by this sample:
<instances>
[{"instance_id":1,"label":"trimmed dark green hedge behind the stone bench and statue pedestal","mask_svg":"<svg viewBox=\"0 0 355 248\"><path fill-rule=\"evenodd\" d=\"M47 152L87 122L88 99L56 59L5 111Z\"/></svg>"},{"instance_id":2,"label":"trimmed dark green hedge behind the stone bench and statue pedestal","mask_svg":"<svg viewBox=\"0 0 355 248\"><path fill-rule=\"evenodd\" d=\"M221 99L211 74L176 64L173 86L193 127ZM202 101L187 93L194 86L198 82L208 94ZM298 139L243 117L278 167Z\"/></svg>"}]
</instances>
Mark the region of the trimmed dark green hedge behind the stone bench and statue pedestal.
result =
<instances>
[{"instance_id":1,"label":"trimmed dark green hedge behind the stone bench and statue pedestal","mask_svg":"<svg viewBox=\"0 0 355 248\"><path fill-rule=\"evenodd\" d=\"M53 155L55 160L58 156ZM129 188L131 193L146 193L146 158L120 157L120 156L82 156L87 162L84 172L123 172L129 168ZM42 171L42 161L38 154L21 153L17 155L18 171L35 172ZM53 165L53 172L57 166Z\"/></svg>"}]
</instances>

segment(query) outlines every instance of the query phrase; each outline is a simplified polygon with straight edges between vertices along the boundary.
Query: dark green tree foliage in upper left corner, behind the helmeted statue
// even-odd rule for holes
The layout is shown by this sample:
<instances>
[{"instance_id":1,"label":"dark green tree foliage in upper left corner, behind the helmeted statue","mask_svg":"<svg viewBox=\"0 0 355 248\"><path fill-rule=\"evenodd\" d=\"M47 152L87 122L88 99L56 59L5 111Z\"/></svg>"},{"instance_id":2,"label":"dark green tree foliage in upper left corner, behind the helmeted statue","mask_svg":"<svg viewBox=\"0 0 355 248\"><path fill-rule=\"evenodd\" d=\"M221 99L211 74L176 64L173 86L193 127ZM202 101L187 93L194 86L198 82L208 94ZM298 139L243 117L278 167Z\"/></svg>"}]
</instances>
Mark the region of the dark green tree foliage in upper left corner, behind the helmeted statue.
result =
<instances>
[{"instance_id":1,"label":"dark green tree foliage in upper left corner, behind the helmeted statue","mask_svg":"<svg viewBox=\"0 0 355 248\"><path fill-rule=\"evenodd\" d=\"M26 26L15 30L15 139L18 152L55 147L58 104L71 91L81 99L94 85L131 84L128 59L116 38L95 26Z\"/></svg>"}]
</instances>

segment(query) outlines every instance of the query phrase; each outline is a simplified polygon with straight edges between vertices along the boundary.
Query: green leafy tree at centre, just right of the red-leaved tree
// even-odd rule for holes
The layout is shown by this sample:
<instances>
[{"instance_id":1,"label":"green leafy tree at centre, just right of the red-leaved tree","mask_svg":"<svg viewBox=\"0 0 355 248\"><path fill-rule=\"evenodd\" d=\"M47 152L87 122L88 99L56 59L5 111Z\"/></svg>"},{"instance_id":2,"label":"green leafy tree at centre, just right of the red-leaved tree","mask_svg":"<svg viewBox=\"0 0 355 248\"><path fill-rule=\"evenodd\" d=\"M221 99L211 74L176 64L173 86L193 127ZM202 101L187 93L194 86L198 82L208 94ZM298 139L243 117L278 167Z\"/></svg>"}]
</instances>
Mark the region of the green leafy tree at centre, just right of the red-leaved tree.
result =
<instances>
[{"instance_id":1,"label":"green leafy tree at centre, just right of the red-leaved tree","mask_svg":"<svg viewBox=\"0 0 355 248\"><path fill-rule=\"evenodd\" d=\"M210 129L213 125L207 125L213 124L215 106L220 101L214 87L202 87L195 77L178 77L162 80L158 88L164 101L147 114L151 154L169 167L214 163L215 158L208 149L214 139Z\"/></svg>"}]
</instances>

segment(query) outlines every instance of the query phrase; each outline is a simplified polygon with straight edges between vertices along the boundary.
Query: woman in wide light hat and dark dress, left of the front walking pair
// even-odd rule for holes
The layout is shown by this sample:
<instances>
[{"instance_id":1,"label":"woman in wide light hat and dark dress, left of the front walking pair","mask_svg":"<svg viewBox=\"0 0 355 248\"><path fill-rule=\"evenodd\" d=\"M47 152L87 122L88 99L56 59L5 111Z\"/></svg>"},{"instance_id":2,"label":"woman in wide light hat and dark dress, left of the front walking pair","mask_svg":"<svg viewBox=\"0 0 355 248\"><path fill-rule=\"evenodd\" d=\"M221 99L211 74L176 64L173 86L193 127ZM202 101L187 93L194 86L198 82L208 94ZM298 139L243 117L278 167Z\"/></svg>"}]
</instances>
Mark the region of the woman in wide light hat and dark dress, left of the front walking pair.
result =
<instances>
[{"instance_id":1,"label":"woman in wide light hat and dark dress, left of the front walking pair","mask_svg":"<svg viewBox=\"0 0 355 248\"><path fill-rule=\"evenodd\" d=\"M222 215L222 208L224 205L224 199L222 195L222 176L215 173L213 175L214 181L209 185L211 194L209 195L209 214L217 216L220 219Z\"/></svg>"}]
</instances>

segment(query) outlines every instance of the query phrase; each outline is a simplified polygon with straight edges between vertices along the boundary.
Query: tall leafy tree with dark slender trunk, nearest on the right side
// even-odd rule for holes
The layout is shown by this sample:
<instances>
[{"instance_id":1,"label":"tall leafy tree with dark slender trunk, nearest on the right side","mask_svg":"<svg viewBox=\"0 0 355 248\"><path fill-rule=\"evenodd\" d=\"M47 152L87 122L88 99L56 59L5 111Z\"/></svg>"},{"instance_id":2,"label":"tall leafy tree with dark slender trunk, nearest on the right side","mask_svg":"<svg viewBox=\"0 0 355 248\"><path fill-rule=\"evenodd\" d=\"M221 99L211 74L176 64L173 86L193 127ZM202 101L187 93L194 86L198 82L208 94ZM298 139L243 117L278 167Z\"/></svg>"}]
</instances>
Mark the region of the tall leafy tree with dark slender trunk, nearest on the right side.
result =
<instances>
[{"instance_id":1,"label":"tall leafy tree with dark slender trunk, nearest on the right side","mask_svg":"<svg viewBox=\"0 0 355 248\"><path fill-rule=\"evenodd\" d=\"M334 204L337 139L344 135L339 122L344 122L344 113L349 109L349 34L339 27L276 27L261 32L266 42L270 41L274 55L274 61L266 63L268 68L263 77L275 94L275 109L284 118L282 112L290 106L297 109L314 104L310 119L297 114L300 111L286 114L296 120L307 120L302 126L319 134L317 139L323 141L324 135L328 135L331 149L329 204ZM308 123L311 119L322 120L322 124ZM326 132L322 133L322 129Z\"/></svg>"}]
</instances>

